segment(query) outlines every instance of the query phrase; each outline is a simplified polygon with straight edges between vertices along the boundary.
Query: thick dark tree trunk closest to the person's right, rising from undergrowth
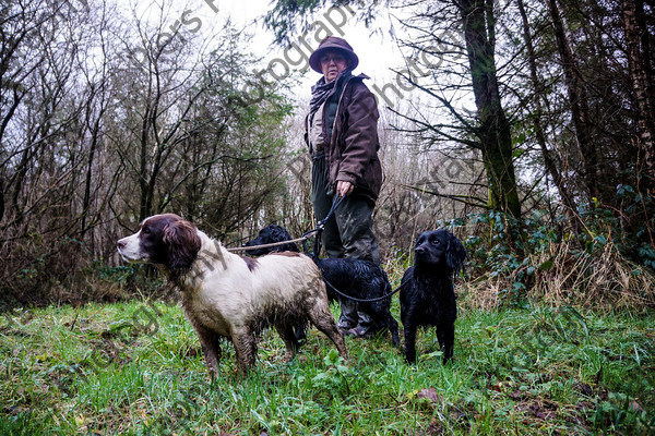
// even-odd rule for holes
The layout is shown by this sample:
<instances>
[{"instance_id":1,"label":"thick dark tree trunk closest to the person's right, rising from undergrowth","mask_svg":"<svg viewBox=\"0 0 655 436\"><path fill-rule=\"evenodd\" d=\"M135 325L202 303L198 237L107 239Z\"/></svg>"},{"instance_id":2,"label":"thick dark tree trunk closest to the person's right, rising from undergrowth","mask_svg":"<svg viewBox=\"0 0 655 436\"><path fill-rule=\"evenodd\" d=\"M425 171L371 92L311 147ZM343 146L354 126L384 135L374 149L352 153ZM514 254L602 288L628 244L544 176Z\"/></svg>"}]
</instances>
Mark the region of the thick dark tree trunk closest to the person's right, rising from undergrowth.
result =
<instances>
[{"instance_id":1,"label":"thick dark tree trunk closest to the person's right, rising from undergrowth","mask_svg":"<svg viewBox=\"0 0 655 436\"><path fill-rule=\"evenodd\" d=\"M489 183L488 205L521 216L512 161L510 124L500 101L496 71L496 34L491 0L463 0L458 3L473 93L479 118L478 137Z\"/></svg>"}]
</instances>

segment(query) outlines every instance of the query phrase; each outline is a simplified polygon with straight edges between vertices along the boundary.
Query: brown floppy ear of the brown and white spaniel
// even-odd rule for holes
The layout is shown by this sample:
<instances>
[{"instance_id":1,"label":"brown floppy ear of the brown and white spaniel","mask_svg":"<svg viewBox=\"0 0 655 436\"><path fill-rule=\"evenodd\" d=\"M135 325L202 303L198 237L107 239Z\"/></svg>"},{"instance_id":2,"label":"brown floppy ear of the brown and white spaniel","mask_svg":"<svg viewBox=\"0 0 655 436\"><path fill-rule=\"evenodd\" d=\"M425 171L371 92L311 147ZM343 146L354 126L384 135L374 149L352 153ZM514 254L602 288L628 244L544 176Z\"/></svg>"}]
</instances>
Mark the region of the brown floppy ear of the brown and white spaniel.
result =
<instances>
[{"instance_id":1,"label":"brown floppy ear of the brown and white spaniel","mask_svg":"<svg viewBox=\"0 0 655 436\"><path fill-rule=\"evenodd\" d=\"M164 243L168 246L167 267L170 271L176 276L187 272L201 245L195 226L184 220L169 223L164 229Z\"/></svg>"}]
</instances>

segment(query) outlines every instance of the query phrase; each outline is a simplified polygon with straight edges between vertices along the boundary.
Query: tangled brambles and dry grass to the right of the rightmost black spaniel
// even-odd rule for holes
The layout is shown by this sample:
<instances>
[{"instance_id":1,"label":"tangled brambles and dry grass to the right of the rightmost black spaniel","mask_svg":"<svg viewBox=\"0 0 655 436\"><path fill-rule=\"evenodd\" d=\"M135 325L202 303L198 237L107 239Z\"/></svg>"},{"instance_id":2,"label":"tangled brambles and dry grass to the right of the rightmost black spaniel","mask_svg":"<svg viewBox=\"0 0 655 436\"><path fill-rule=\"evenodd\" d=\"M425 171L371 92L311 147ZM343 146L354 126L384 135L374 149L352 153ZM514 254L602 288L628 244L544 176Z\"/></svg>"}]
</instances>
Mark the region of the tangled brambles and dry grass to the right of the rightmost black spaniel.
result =
<instances>
[{"instance_id":1,"label":"tangled brambles and dry grass to the right of the rightmost black spaniel","mask_svg":"<svg viewBox=\"0 0 655 436\"><path fill-rule=\"evenodd\" d=\"M569 217L488 210L441 225L463 239L471 283L498 305L544 299L653 307L655 203L626 185L617 194L627 205L621 213L594 202Z\"/></svg>"}]
</instances>

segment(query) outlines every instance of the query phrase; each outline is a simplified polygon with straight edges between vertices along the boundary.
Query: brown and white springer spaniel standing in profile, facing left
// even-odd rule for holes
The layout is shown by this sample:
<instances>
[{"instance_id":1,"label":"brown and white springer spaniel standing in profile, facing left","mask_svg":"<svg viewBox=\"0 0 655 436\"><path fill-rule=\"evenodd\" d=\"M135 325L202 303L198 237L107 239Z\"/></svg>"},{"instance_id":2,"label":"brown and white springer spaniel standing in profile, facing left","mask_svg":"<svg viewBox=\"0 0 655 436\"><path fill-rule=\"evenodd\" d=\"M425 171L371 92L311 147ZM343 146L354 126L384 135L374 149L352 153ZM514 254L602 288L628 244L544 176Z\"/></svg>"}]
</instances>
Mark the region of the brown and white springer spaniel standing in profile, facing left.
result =
<instances>
[{"instance_id":1,"label":"brown and white springer spaniel standing in profile, facing left","mask_svg":"<svg viewBox=\"0 0 655 436\"><path fill-rule=\"evenodd\" d=\"M237 364L247 373L257 356L255 335L267 326L277 329L287 359L293 359L298 348L293 326L299 319L309 319L347 359L321 271L302 254L241 257L174 214L146 218L139 232L117 245L126 261L156 265L180 289L182 307L214 374L221 337L231 340Z\"/></svg>"}]
</instances>

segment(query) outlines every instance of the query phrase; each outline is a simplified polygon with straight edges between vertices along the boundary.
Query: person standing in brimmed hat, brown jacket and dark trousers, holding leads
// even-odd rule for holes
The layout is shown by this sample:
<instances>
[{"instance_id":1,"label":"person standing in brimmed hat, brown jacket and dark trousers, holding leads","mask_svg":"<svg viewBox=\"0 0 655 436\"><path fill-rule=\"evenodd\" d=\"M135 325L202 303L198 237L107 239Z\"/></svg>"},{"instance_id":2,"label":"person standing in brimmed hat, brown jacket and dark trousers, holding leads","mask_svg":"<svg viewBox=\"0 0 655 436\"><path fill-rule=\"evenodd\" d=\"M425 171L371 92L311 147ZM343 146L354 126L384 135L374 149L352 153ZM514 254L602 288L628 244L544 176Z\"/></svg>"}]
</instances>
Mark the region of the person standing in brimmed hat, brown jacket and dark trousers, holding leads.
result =
<instances>
[{"instance_id":1,"label":"person standing in brimmed hat, brown jacket and dark trousers, holding leads","mask_svg":"<svg viewBox=\"0 0 655 436\"><path fill-rule=\"evenodd\" d=\"M358 64L353 47L340 37L329 36L312 52L309 65L323 76L311 88L305 141L312 158L315 218L323 219L333 201L345 197L323 228L327 256L380 265L372 221L382 185L379 112L373 94L364 84L369 77L353 75ZM337 326L346 334L366 336L371 318L358 311L354 301L340 300Z\"/></svg>"}]
</instances>

